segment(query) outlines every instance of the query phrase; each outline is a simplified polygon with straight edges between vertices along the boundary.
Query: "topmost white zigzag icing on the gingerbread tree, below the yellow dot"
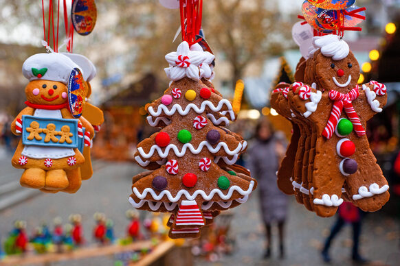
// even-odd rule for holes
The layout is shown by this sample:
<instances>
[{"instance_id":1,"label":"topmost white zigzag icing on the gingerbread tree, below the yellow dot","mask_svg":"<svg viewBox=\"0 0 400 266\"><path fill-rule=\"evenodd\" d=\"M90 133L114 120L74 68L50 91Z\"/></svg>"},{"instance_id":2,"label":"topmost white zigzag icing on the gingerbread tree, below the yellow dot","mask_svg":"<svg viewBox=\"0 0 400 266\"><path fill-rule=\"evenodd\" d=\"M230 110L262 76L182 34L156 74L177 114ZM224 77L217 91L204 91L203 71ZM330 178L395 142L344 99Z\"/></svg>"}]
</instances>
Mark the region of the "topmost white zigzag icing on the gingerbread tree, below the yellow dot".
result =
<instances>
[{"instance_id":1,"label":"topmost white zigzag icing on the gingerbread tree, below the yellow dot","mask_svg":"<svg viewBox=\"0 0 400 266\"><path fill-rule=\"evenodd\" d=\"M197 105L195 104L188 104L188 106L186 106L185 110L182 108L182 106L180 106L179 104L174 104L173 107L169 110L167 106L165 106L164 104L160 104L157 108L157 111L153 110L153 106L150 106L147 111L149 114L151 114L151 116L153 117L159 117L160 114L162 114L162 112L164 112L164 114L171 116L173 114L175 114L175 112L179 112L179 114L181 114L182 116L186 115L189 113L190 109L195 110L195 112L197 112L197 114L202 114L205 111L205 107L210 108L212 111L214 112L219 112L222 108L222 106L225 104L225 106L227 106L228 111L230 113L230 116L234 119L234 112L232 111L232 104L230 104L230 101L228 101L227 99L221 99L221 101L219 101L218 106L214 106L214 104L212 104L211 101L203 101L201 103L200 108L197 107ZM222 114L223 112L221 112ZM223 114L225 115L225 114Z\"/></svg>"}]
</instances>

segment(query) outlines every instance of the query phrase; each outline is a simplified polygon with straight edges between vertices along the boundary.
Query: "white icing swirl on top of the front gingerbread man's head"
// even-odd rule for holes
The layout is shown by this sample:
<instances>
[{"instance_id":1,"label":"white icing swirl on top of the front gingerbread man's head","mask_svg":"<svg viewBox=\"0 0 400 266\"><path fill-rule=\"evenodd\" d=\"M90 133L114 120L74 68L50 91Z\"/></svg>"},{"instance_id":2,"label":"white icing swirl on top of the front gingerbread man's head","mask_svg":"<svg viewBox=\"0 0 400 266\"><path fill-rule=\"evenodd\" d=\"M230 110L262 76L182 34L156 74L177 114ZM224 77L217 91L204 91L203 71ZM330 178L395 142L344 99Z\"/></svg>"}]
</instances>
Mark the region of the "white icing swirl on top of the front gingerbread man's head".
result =
<instances>
[{"instance_id":1,"label":"white icing swirl on top of the front gingerbread man's head","mask_svg":"<svg viewBox=\"0 0 400 266\"><path fill-rule=\"evenodd\" d=\"M350 47L340 36L329 34L313 38L313 46L320 48L321 53L335 61L342 60L348 56Z\"/></svg>"}]
</instances>

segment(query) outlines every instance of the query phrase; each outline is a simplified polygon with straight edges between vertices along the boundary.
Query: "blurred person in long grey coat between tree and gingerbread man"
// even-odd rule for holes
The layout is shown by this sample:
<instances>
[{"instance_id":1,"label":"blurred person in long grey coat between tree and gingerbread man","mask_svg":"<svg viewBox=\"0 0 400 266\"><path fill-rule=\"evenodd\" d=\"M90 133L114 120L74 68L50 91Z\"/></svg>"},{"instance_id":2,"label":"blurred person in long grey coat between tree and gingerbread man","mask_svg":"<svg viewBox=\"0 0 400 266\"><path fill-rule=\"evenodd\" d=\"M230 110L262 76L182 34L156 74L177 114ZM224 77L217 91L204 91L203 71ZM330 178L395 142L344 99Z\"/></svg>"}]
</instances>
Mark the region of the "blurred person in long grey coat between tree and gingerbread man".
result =
<instances>
[{"instance_id":1,"label":"blurred person in long grey coat between tree and gingerbread man","mask_svg":"<svg viewBox=\"0 0 400 266\"><path fill-rule=\"evenodd\" d=\"M267 119L258 121L256 139L247 152L247 168L257 179L261 213L265 224L267 245L264 258L271 256L271 223L278 224L280 258L285 256L284 229L287 217L287 195L276 185L276 171L285 156L285 137L274 131Z\"/></svg>"}]
</instances>

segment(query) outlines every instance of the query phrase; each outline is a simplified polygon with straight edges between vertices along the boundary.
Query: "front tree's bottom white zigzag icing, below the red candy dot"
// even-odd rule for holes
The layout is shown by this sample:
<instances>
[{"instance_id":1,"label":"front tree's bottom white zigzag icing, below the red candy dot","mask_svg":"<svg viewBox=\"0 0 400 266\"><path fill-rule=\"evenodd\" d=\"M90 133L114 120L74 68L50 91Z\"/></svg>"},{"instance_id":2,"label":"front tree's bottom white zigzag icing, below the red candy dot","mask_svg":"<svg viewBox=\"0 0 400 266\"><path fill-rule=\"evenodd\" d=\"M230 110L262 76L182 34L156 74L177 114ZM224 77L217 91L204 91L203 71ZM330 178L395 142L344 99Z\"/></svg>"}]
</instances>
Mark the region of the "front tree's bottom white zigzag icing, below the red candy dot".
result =
<instances>
[{"instance_id":1,"label":"front tree's bottom white zigzag icing, below the red candy dot","mask_svg":"<svg viewBox=\"0 0 400 266\"><path fill-rule=\"evenodd\" d=\"M178 193L175 197L173 197L173 195L168 190L161 191L159 193L159 195L157 195L155 193L155 191L151 188L144 189L143 193L140 193L136 187L134 187L132 189L132 191L136 195L136 197L138 197L139 199L144 199L146 197L146 195L148 193L150 193L151 197L153 197L153 199L155 199L155 201L161 200L162 197L164 197L164 195L166 195L168 197L168 200L170 202L177 202L181 198L182 195L185 195L186 199L188 199L188 200L194 200L198 195L201 195L201 197L203 197L203 199L205 201L210 201L212 199L212 197L214 197L215 194L218 194L222 200L230 199L230 197L232 197L232 194L234 193L234 191L237 191L239 194L241 194L243 196L249 195L253 191L253 186L254 186L254 181L250 181L249 188L247 189L247 191L243 191L243 189L241 189L240 186L236 186L236 185L231 186L226 195L223 194L223 192L220 189L213 189L210 192L210 194L208 194L208 195L205 194L205 192L201 189L195 191L195 193L193 193L192 195L190 195L190 193L188 191L181 189L180 191L178 191Z\"/></svg>"}]
</instances>

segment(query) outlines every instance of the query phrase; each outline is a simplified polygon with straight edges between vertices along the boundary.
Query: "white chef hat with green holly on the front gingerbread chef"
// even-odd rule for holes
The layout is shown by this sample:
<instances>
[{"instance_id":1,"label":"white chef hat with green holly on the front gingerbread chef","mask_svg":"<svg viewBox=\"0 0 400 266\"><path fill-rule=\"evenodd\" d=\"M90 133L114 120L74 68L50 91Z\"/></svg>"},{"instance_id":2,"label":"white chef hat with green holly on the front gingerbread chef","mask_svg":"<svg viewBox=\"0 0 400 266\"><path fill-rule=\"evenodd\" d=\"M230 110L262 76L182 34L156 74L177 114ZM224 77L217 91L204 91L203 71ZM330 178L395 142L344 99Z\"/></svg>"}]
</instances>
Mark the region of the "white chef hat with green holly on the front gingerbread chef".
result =
<instances>
[{"instance_id":1,"label":"white chef hat with green holly on the front gingerbread chef","mask_svg":"<svg viewBox=\"0 0 400 266\"><path fill-rule=\"evenodd\" d=\"M61 53L36 53L25 60L22 73L29 81L52 80L68 84L74 68L80 69L78 64Z\"/></svg>"}]
</instances>

